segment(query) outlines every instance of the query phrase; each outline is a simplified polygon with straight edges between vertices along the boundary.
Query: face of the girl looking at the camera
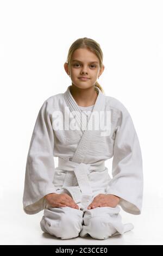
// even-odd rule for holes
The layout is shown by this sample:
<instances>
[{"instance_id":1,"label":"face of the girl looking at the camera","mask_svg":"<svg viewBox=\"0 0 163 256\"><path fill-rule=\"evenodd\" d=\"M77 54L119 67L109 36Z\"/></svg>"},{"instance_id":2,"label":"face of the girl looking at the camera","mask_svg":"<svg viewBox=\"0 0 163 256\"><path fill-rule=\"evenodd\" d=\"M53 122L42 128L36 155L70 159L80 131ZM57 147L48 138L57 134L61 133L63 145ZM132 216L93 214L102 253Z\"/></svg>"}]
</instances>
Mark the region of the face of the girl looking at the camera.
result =
<instances>
[{"instance_id":1,"label":"face of the girl looking at the camera","mask_svg":"<svg viewBox=\"0 0 163 256\"><path fill-rule=\"evenodd\" d=\"M72 83L78 88L83 89L95 86L103 70L104 66L100 70L99 60L95 53L86 48L79 48L73 52L69 75ZM87 79L82 80L80 77L86 77Z\"/></svg>"}]
</instances>

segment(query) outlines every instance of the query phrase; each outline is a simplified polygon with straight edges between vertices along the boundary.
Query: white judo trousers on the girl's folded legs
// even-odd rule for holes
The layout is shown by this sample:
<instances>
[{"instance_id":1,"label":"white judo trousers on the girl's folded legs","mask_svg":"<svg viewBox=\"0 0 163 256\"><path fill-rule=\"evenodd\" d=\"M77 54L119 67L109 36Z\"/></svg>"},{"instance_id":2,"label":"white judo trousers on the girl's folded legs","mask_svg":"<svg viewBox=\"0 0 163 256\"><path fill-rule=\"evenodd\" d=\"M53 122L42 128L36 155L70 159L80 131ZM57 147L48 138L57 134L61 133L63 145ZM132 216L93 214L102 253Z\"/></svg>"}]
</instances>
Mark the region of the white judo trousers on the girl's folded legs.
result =
<instances>
[{"instance_id":1,"label":"white judo trousers on the girl's folded legs","mask_svg":"<svg viewBox=\"0 0 163 256\"><path fill-rule=\"evenodd\" d=\"M78 204L79 206L80 204ZM79 206L80 207L80 206ZM53 208L46 206L40 222L42 231L60 239L91 236L93 239L108 239L134 228L133 224L122 224L120 206L94 209L74 209L69 206Z\"/></svg>"}]
</instances>

